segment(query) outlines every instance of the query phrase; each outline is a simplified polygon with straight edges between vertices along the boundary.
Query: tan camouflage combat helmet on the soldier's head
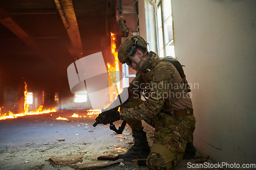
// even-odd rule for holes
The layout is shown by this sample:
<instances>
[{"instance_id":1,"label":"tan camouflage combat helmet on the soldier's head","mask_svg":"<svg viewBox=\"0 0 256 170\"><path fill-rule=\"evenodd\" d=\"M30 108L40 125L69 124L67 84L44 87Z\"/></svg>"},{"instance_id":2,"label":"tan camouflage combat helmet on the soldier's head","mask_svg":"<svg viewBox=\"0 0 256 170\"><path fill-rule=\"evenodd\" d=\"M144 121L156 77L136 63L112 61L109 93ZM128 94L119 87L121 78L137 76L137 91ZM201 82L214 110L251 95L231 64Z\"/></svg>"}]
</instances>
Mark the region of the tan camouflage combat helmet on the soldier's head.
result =
<instances>
[{"instance_id":1,"label":"tan camouflage combat helmet on the soldier's head","mask_svg":"<svg viewBox=\"0 0 256 170\"><path fill-rule=\"evenodd\" d=\"M147 42L141 36L129 36L120 45L118 50L118 60L124 64L127 57L131 57L136 46L146 48ZM147 48L146 48L147 51Z\"/></svg>"}]
</instances>

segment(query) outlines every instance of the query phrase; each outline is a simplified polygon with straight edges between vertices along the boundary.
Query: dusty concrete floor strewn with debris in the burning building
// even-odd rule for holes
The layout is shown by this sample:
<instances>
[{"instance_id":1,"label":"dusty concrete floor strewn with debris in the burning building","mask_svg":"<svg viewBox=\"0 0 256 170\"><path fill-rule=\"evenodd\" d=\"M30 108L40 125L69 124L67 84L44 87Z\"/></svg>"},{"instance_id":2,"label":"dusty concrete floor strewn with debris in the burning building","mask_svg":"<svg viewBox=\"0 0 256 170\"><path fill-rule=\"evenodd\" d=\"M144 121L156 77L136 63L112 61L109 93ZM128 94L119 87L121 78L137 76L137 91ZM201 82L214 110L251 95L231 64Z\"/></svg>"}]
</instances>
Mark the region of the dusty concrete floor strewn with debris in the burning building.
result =
<instances>
[{"instance_id":1,"label":"dusty concrete floor strewn with debris in the burning building","mask_svg":"<svg viewBox=\"0 0 256 170\"><path fill-rule=\"evenodd\" d=\"M73 113L81 118L71 117ZM122 135L117 135L109 126L93 127L95 117L83 117L86 110L65 110L41 115L30 115L0 120L0 169L77 169L79 165L97 160L100 155L118 155L131 147L131 129L126 126ZM57 117L69 120L57 120ZM115 123L118 127L121 121ZM147 138L153 143L154 129L145 125ZM58 141L65 139L65 141ZM54 165L49 162L54 156L82 155L82 162L70 165ZM175 169L188 168L188 164L216 163L198 153L197 159L182 160ZM201 156L201 157L199 157ZM136 162L123 162L101 169L148 169Z\"/></svg>"}]
</instances>

